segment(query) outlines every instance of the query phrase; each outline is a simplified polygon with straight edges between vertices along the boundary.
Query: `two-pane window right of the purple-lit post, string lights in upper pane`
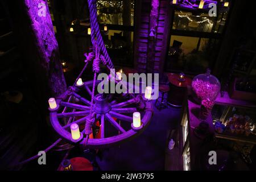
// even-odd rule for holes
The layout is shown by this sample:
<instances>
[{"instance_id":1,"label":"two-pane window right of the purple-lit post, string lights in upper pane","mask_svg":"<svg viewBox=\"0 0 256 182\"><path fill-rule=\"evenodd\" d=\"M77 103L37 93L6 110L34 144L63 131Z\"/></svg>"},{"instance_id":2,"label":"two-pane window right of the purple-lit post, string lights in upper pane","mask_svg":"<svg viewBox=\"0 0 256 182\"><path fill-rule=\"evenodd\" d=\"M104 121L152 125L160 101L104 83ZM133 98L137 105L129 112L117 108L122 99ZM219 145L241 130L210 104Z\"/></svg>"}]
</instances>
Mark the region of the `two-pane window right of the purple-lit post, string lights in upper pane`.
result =
<instances>
[{"instance_id":1,"label":"two-pane window right of the purple-lit post, string lights in upper pane","mask_svg":"<svg viewBox=\"0 0 256 182\"><path fill-rule=\"evenodd\" d=\"M217 16L210 17L208 11L174 9L165 71L196 75L212 69L228 12L218 9Z\"/></svg>"}]
</instances>

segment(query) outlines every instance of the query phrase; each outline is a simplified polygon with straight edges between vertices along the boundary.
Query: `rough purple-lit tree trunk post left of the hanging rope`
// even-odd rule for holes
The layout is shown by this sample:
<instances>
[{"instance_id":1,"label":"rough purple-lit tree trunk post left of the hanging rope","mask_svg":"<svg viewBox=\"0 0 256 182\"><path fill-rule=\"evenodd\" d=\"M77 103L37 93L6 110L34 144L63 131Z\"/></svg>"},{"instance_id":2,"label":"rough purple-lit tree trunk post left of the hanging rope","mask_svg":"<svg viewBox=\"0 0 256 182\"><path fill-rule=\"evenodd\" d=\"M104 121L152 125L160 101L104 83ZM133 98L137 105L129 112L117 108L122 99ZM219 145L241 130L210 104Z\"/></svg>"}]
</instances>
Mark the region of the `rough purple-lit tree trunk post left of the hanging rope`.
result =
<instances>
[{"instance_id":1,"label":"rough purple-lit tree trunk post left of the hanging rope","mask_svg":"<svg viewBox=\"0 0 256 182\"><path fill-rule=\"evenodd\" d=\"M38 52L38 69L46 74L48 80L46 84L50 94L57 97L66 90L67 85L60 64L59 47L47 1L24 0L24 6L27 9L28 20L30 20L34 46Z\"/></svg>"}]
</instances>

